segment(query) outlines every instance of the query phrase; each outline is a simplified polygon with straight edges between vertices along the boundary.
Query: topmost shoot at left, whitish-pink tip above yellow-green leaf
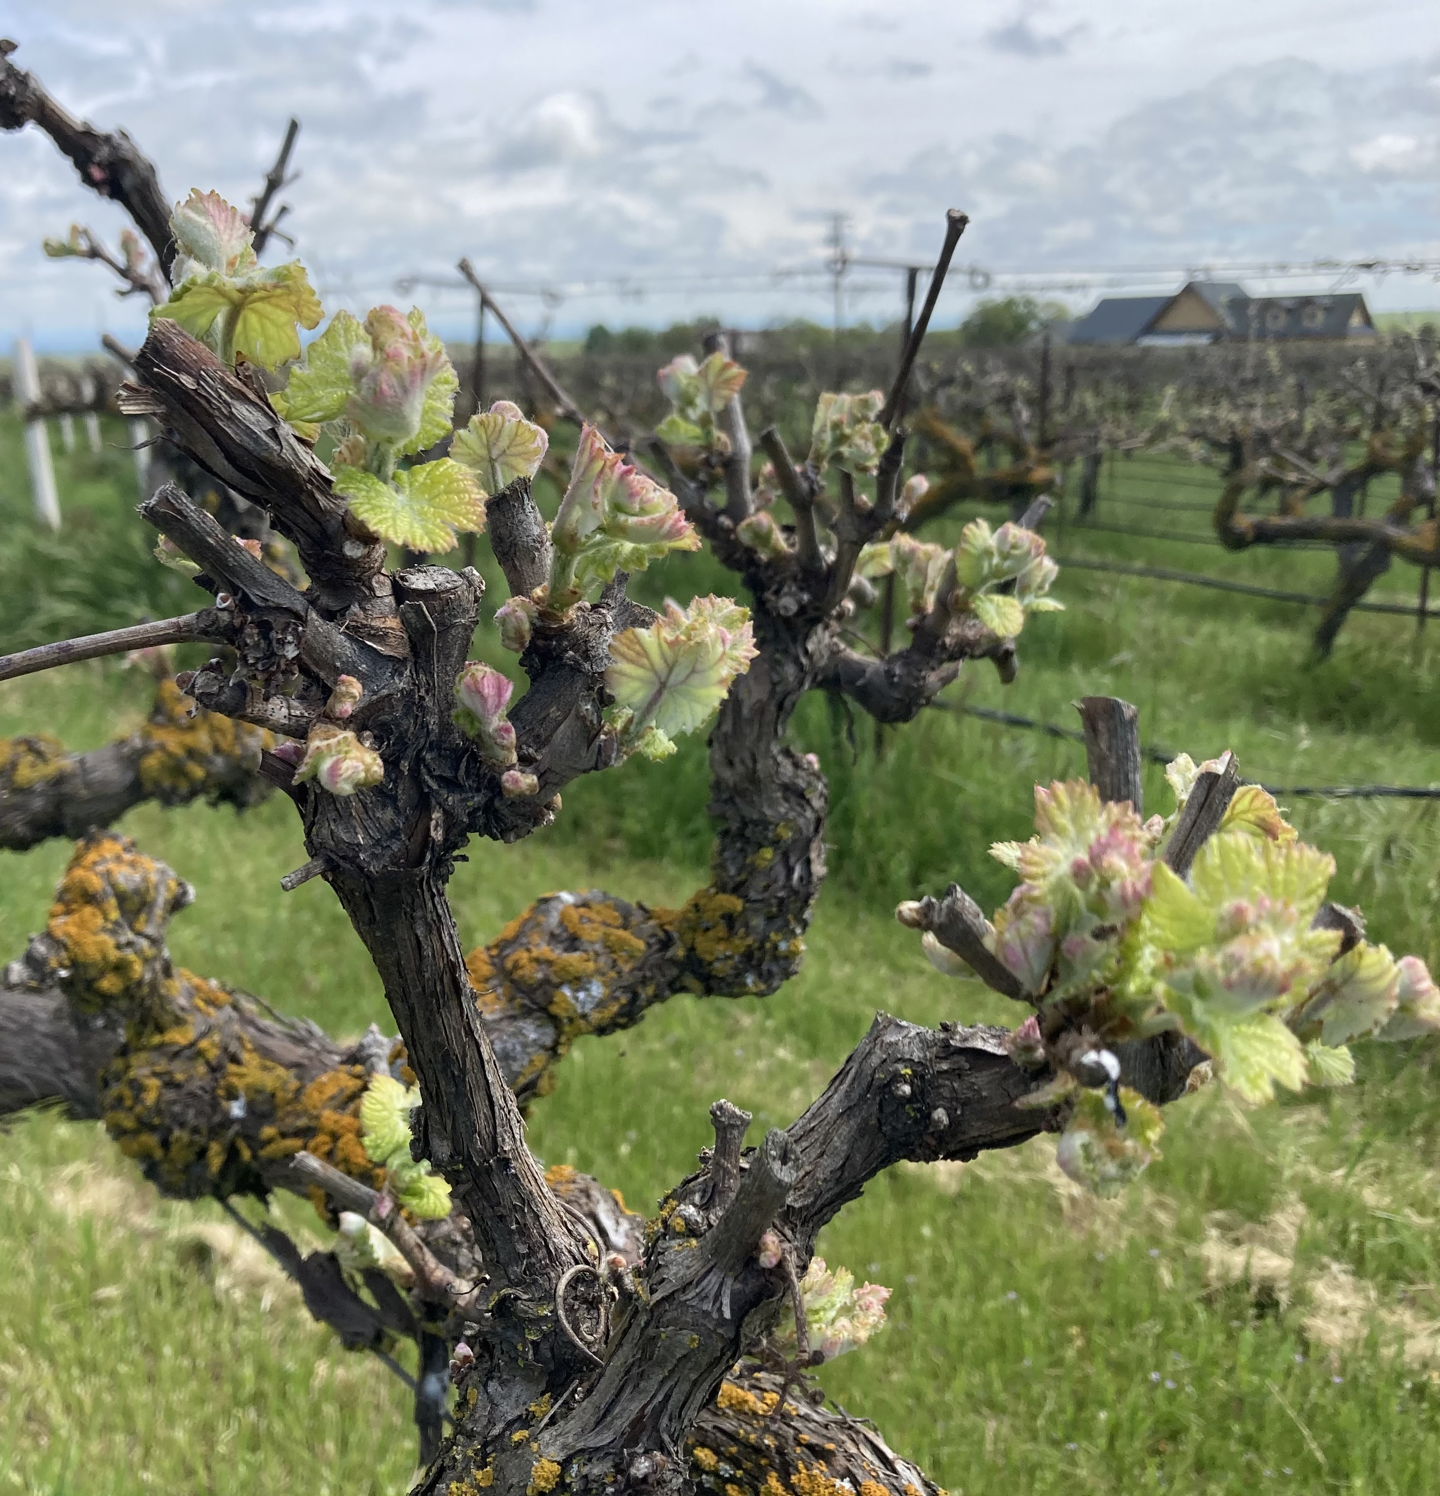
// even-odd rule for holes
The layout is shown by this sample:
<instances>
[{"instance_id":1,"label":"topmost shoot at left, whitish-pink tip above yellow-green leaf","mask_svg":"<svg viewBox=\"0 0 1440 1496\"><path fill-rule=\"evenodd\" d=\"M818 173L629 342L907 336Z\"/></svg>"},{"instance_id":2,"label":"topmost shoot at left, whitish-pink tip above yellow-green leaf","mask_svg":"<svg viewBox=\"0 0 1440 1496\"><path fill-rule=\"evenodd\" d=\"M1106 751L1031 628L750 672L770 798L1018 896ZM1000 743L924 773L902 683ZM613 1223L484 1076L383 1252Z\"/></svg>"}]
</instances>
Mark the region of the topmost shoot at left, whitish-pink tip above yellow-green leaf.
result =
<instances>
[{"instance_id":1,"label":"topmost shoot at left, whitish-pink tip above yellow-green leaf","mask_svg":"<svg viewBox=\"0 0 1440 1496\"><path fill-rule=\"evenodd\" d=\"M299 358L301 328L320 322L320 302L298 260L265 269L250 226L217 193L192 191L171 215L180 247L175 289L151 317L178 322L226 364L237 355L262 368Z\"/></svg>"}]
</instances>

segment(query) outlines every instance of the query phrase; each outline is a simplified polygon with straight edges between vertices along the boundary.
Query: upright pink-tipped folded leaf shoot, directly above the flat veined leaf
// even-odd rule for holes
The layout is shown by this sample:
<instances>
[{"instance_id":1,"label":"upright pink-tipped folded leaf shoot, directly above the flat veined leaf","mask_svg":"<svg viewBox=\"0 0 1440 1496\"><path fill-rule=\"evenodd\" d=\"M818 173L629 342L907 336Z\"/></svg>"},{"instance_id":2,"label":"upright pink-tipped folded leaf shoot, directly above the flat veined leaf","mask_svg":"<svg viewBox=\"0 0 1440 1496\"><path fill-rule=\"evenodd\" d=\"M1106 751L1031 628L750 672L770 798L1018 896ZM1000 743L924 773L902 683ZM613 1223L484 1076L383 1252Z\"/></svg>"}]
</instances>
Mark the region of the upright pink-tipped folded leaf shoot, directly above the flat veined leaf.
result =
<instances>
[{"instance_id":1,"label":"upright pink-tipped folded leaf shoot, directly above the flat veined leaf","mask_svg":"<svg viewBox=\"0 0 1440 1496\"><path fill-rule=\"evenodd\" d=\"M669 551L699 549L701 540L675 495L611 452L587 425L551 525L551 545L555 558L548 601L564 609L617 571L642 571Z\"/></svg>"}]
</instances>

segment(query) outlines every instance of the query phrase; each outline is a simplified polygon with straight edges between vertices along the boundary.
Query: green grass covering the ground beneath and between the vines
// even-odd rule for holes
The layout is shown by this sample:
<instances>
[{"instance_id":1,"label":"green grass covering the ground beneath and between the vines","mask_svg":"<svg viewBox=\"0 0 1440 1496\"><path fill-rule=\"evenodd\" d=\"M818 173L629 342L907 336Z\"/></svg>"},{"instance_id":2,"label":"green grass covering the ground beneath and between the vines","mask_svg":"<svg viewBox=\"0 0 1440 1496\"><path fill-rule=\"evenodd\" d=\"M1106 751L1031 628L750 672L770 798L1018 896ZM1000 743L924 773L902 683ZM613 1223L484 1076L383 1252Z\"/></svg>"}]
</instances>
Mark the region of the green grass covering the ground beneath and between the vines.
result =
<instances>
[{"instance_id":1,"label":"green grass covering the ground beneath and between the vines","mask_svg":"<svg viewBox=\"0 0 1440 1496\"><path fill-rule=\"evenodd\" d=\"M1171 479L1123 470L1108 500L1157 513L1102 500L1102 518L1203 534L1205 516L1177 507L1203 495ZM1052 543L1302 591L1323 591L1334 567L1316 552L1087 536L1069 519ZM1382 589L1407 597L1413 580L1397 568ZM721 583L704 557L644 579L651 597ZM1313 664L1305 609L1073 570L1057 592L1067 612L1027 627L1013 687L967 667L951 694L1064 726L1076 697L1123 694L1147 741L1196 757L1233 747L1269 782L1437 779L1434 625L1416 645L1409 621L1361 615ZM115 730L117 702L139 715L147 694L108 666L12 682L0 733L46 727L85 747ZM629 1034L582 1040L531 1118L546 1161L596 1173L636 1209L693 1165L710 1101L751 1109L756 1131L787 1122L876 1008L1012 1017L934 974L888 910L951 877L997 902L1006 877L985 847L1025 833L1030 784L1081 772L1079 748L934 711L877 760L868 723L852 747L820 700L796 741L834 794L832 878L802 975L768 1001L678 998ZM1154 808L1162 788L1150 773ZM454 884L466 941L548 889L683 898L704 877L704 745L686 744L575 785L561 823L519 847L472 847ZM1335 851L1335 896L1434 968L1434 803L1290 809ZM142 806L124 830L196 884L172 931L178 960L337 1034L386 1020L329 892L278 890L304 860L278 797L241 818ZM67 853L3 860L0 957L43 922ZM1078 1195L1043 1140L895 1170L822 1240L895 1290L891 1325L826 1385L952 1493L1431 1490L1437 1082L1428 1043L1374 1049L1355 1088L1263 1110L1202 1091L1168 1115L1165 1158L1109 1204ZM0 1492L403 1489L403 1388L313 1327L219 1210L160 1201L94 1126L31 1116L3 1147ZM283 1209L304 1224L302 1206Z\"/></svg>"}]
</instances>

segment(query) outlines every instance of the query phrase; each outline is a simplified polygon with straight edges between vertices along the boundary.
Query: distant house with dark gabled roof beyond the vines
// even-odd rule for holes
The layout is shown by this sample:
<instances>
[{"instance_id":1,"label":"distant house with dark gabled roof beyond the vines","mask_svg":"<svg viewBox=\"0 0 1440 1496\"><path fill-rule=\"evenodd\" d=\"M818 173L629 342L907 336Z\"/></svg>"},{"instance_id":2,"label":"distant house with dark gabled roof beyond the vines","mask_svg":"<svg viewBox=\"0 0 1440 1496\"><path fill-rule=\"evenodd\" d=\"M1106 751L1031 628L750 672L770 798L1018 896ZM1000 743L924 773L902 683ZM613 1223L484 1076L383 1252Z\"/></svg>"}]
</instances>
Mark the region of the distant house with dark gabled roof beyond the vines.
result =
<instances>
[{"instance_id":1,"label":"distant house with dark gabled roof beyond the vines","mask_svg":"<svg viewBox=\"0 0 1440 1496\"><path fill-rule=\"evenodd\" d=\"M1250 338L1377 337L1359 292L1250 296L1235 281L1187 281L1174 296L1106 296L1070 328L1070 343L1186 347Z\"/></svg>"}]
</instances>

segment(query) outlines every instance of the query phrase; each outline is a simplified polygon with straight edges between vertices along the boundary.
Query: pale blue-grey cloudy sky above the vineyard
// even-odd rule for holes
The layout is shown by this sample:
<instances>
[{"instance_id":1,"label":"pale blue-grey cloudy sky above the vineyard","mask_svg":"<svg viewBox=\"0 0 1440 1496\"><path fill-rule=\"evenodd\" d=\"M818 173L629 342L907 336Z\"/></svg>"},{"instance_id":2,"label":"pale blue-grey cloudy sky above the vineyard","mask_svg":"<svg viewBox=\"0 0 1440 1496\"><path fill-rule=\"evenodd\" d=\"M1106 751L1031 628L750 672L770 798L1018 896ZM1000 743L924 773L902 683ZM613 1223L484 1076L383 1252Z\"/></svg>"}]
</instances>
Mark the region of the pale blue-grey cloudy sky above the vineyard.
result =
<instances>
[{"instance_id":1,"label":"pale blue-grey cloudy sky above the vineyard","mask_svg":"<svg viewBox=\"0 0 1440 1496\"><path fill-rule=\"evenodd\" d=\"M418 275L457 332L460 254L530 331L828 319L837 212L852 253L927 260L961 206L961 262L1078 307L1099 271L1440 254L1434 0L0 0L0 31L175 197L248 199L298 115L287 226L326 305ZM123 221L33 129L0 136L0 349L139 326L40 254L72 220ZM892 317L898 281L853 268L846 317ZM971 298L952 278L942 320Z\"/></svg>"}]
</instances>

